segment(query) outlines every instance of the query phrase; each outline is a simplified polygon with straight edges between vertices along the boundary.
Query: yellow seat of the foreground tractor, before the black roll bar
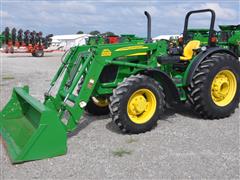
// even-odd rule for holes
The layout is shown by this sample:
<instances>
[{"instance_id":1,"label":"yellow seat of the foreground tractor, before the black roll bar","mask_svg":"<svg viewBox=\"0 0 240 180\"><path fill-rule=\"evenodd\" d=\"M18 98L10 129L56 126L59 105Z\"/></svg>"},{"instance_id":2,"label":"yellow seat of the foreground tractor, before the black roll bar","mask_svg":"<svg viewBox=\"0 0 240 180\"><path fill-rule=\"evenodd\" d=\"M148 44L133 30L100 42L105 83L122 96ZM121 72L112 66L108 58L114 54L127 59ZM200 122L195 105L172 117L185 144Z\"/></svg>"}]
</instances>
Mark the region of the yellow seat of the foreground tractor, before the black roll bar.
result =
<instances>
[{"instance_id":1,"label":"yellow seat of the foreground tractor, before the black roll bar","mask_svg":"<svg viewBox=\"0 0 240 180\"><path fill-rule=\"evenodd\" d=\"M192 40L187 43L187 45L183 49L183 56L180 56L180 60L189 61L193 57L194 49L198 49L200 47L200 41Z\"/></svg>"}]
</instances>

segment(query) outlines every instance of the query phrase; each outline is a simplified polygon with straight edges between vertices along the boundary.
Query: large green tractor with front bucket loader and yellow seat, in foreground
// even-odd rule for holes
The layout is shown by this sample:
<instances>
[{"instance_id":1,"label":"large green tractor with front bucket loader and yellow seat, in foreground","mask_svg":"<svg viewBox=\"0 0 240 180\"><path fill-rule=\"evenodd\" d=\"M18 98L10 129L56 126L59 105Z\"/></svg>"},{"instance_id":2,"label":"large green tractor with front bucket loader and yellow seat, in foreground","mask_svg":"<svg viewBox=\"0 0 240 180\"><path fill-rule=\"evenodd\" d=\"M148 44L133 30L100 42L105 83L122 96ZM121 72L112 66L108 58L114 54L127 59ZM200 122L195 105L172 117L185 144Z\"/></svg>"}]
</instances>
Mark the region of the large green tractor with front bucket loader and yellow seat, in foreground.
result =
<instances>
[{"instance_id":1,"label":"large green tractor with front bucket loader and yellow seat, in foreground","mask_svg":"<svg viewBox=\"0 0 240 180\"><path fill-rule=\"evenodd\" d=\"M201 46L185 37L190 15L205 12L212 18L208 44ZM236 54L218 47L212 38L214 11L187 13L182 48L177 50L164 40L152 42L151 17L145 15L144 43L71 48L43 103L29 95L27 86L14 88L0 112L0 132L13 163L65 154L67 133L77 128L84 111L110 112L124 133L151 130L167 104L178 107L187 100L203 118L219 119L234 112L240 98L240 64Z\"/></svg>"}]
</instances>

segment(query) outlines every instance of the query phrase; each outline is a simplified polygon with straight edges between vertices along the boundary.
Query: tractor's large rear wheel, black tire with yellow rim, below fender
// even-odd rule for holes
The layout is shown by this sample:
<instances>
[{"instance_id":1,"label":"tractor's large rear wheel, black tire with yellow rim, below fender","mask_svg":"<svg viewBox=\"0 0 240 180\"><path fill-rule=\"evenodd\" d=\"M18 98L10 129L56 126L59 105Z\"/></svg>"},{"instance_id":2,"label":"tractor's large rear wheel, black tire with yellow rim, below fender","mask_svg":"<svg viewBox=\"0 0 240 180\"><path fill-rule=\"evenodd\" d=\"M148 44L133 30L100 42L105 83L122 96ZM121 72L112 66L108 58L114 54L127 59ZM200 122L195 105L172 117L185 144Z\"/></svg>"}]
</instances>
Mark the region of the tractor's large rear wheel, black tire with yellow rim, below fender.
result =
<instances>
[{"instance_id":1,"label":"tractor's large rear wheel, black tire with yellow rim, below fender","mask_svg":"<svg viewBox=\"0 0 240 180\"><path fill-rule=\"evenodd\" d=\"M203 118L230 116L240 99L240 64L228 54L204 59L193 75L188 97L195 112Z\"/></svg>"}]
</instances>

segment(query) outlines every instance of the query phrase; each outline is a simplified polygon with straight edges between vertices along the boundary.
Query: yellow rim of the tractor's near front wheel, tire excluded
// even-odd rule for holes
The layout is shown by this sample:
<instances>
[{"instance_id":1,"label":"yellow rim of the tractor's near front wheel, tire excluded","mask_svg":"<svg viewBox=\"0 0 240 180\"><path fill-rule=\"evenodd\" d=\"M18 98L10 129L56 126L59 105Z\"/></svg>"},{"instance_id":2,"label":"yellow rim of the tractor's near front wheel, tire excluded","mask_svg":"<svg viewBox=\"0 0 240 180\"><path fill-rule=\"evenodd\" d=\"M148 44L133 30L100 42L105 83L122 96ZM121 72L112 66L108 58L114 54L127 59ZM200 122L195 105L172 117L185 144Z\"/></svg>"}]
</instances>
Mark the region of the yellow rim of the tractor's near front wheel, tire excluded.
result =
<instances>
[{"instance_id":1,"label":"yellow rim of the tractor's near front wheel, tire excluded","mask_svg":"<svg viewBox=\"0 0 240 180\"><path fill-rule=\"evenodd\" d=\"M157 100L152 91L139 89L128 100L127 113L130 120L136 124L148 122L157 108Z\"/></svg>"}]
</instances>

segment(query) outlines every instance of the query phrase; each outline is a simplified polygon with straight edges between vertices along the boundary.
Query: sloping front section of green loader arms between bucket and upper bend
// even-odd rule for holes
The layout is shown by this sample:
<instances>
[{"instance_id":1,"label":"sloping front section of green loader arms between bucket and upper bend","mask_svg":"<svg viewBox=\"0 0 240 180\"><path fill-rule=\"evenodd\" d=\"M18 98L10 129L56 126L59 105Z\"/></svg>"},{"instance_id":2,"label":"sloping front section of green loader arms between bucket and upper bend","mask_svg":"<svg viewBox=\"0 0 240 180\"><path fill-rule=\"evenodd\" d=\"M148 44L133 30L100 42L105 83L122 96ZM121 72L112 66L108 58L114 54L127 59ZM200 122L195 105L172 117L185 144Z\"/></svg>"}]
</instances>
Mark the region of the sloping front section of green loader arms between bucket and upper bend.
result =
<instances>
[{"instance_id":1,"label":"sloping front section of green loader arms between bucket and upper bend","mask_svg":"<svg viewBox=\"0 0 240 180\"><path fill-rule=\"evenodd\" d=\"M63 76L56 96L51 96L50 90L45 95L44 104L58 112L67 131L73 131L77 127L83 108L94 90L96 83L93 79L98 79L104 67L104 63L99 63L94 57L93 49L89 46L73 48L51 82L50 90L61 75ZM76 87L81 80L83 84L77 93ZM67 119L66 113L69 114Z\"/></svg>"}]
</instances>

